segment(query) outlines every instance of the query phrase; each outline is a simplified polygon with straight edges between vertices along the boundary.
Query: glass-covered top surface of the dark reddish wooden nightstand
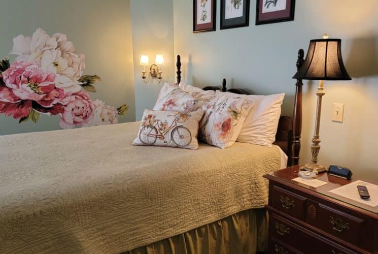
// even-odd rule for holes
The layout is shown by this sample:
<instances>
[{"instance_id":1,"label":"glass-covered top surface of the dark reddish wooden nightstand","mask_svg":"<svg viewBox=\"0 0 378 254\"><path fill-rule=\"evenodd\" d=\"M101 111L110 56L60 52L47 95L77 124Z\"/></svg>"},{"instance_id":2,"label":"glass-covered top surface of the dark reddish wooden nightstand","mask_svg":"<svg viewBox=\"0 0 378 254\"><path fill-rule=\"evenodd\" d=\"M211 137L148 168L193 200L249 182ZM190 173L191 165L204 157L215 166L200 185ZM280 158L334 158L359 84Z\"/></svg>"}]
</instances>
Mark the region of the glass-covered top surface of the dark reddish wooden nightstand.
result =
<instances>
[{"instance_id":1,"label":"glass-covered top surface of the dark reddish wooden nightstand","mask_svg":"<svg viewBox=\"0 0 378 254\"><path fill-rule=\"evenodd\" d=\"M334 190L334 189L339 188L341 186L345 186L345 185L350 184L350 183L354 183L358 180L362 180L366 183L375 184L375 185L378 185L377 182L374 182L374 181L371 181L371 180L366 180L366 179L358 179L357 177L353 177L352 180L346 180L346 179L342 179L342 178L339 178L339 177L336 177L336 176L328 175L327 173L321 173L321 174L317 175L316 179L323 181L323 182L326 182L327 184L324 184L324 185L319 186L319 187L312 187L312 186L308 186L304 183L300 183L300 182L293 180L297 177L300 177L298 175L299 171L300 171L299 166L294 166L294 167L270 172L269 174L265 175L264 177L268 178L270 180L283 181L283 182L286 182L286 183L290 183L291 186L303 188L303 190L306 191L307 193L310 193L310 194L313 194L313 195L324 196L325 198L328 198L328 199L330 199L334 202L346 204L347 206L354 207L355 209L358 209L358 210L361 210L361 211L364 211L364 212L368 212L368 213L370 213L370 215L372 215L372 216L375 215L376 217L378 217L378 205L377 206L367 205L367 204L370 204L370 203L373 202L373 201L371 201L371 199L369 199L367 201L361 200L359 202L359 201L356 201L356 200L353 200L353 199L350 199L350 198L347 198L347 197L343 197L343 196L340 196L340 195L337 195L335 193L330 192L331 190ZM368 187L368 190L369 190L369 187ZM355 192L356 193L353 193L354 195L358 194L357 187L355 189ZM370 197L374 200L376 200L378 198L377 194L375 192L370 193Z\"/></svg>"}]
</instances>

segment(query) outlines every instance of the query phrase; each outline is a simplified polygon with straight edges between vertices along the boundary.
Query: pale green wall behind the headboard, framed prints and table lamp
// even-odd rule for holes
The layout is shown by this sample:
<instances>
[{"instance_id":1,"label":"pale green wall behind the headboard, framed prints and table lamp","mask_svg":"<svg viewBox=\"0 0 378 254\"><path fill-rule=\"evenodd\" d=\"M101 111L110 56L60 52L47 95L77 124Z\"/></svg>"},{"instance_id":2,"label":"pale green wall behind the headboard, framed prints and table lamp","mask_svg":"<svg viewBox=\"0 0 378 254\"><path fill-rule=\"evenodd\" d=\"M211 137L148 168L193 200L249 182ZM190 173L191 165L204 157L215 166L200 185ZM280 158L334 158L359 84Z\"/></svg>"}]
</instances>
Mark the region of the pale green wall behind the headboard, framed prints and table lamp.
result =
<instances>
[{"instance_id":1,"label":"pale green wall behind the headboard, framed prints and table lamp","mask_svg":"<svg viewBox=\"0 0 378 254\"><path fill-rule=\"evenodd\" d=\"M378 180L378 1L299 0L295 21L255 25L251 0L250 26L192 33L193 3L174 1L174 48L183 58L184 77L203 87L227 78L234 87L258 94L286 92L283 113L291 115L292 79L299 48L326 31L342 39L342 54L352 81L327 81L321 118L320 162L352 169L355 175ZM310 160L314 130L316 83L304 84L301 163ZM331 121L332 104L345 103L345 121Z\"/></svg>"}]
</instances>

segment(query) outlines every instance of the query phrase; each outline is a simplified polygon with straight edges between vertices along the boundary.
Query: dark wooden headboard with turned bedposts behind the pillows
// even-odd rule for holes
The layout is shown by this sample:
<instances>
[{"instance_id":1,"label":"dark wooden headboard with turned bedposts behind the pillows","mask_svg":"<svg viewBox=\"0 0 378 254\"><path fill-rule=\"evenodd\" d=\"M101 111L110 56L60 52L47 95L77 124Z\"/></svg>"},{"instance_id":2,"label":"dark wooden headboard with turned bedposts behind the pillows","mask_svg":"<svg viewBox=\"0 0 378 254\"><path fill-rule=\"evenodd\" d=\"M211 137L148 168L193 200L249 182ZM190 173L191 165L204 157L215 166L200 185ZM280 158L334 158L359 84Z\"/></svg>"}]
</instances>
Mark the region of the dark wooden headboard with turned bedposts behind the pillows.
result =
<instances>
[{"instance_id":1,"label":"dark wooden headboard with turned bedposts behind the pillows","mask_svg":"<svg viewBox=\"0 0 378 254\"><path fill-rule=\"evenodd\" d=\"M303 65L304 59L303 49L298 51L298 59L296 62L297 70ZM177 55L177 84L181 82L181 56ZM300 152L300 136L302 131L302 80L297 79L295 84L295 99L293 118L290 116L281 116L276 134L276 142L273 144L278 145L288 156L288 167L299 164L299 152ZM248 91L241 88L227 89L226 79L223 79L222 87L218 86L206 86L203 90L221 90L223 92L233 92L237 94L250 94Z\"/></svg>"}]
</instances>

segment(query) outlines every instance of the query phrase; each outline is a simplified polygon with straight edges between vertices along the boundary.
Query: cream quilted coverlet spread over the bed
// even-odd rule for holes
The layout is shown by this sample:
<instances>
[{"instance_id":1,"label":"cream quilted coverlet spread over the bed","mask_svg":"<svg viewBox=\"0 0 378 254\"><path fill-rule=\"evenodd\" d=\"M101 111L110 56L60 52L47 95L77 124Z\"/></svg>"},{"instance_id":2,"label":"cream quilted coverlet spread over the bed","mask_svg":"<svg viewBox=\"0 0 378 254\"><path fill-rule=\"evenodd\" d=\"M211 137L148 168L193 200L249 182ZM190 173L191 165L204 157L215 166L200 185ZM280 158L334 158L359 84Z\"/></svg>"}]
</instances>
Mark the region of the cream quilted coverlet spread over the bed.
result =
<instances>
[{"instance_id":1,"label":"cream quilted coverlet spread over the bed","mask_svg":"<svg viewBox=\"0 0 378 254\"><path fill-rule=\"evenodd\" d=\"M117 253L268 201L277 147L132 146L139 123L0 137L0 253Z\"/></svg>"}]
</instances>

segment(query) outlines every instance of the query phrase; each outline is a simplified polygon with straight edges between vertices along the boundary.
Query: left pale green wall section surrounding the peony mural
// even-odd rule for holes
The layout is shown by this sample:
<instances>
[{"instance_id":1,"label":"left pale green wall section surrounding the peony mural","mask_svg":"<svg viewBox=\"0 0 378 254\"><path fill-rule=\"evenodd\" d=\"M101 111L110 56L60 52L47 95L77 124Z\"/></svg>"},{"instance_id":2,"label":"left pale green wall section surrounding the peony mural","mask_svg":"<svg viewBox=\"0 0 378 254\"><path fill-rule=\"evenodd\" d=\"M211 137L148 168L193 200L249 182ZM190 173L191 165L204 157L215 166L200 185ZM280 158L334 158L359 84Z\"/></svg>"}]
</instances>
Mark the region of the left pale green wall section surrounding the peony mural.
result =
<instances>
[{"instance_id":1,"label":"left pale green wall section surrounding the peony mural","mask_svg":"<svg viewBox=\"0 0 378 254\"><path fill-rule=\"evenodd\" d=\"M118 107L130 105L120 122L135 120L130 3L128 0L1 0L0 57L12 50L12 39L31 36L41 27L51 36L66 34L77 52L85 54L85 74L97 74L93 100ZM0 135L59 130L58 116L18 124L0 114Z\"/></svg>"}]
</instances>

